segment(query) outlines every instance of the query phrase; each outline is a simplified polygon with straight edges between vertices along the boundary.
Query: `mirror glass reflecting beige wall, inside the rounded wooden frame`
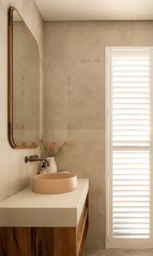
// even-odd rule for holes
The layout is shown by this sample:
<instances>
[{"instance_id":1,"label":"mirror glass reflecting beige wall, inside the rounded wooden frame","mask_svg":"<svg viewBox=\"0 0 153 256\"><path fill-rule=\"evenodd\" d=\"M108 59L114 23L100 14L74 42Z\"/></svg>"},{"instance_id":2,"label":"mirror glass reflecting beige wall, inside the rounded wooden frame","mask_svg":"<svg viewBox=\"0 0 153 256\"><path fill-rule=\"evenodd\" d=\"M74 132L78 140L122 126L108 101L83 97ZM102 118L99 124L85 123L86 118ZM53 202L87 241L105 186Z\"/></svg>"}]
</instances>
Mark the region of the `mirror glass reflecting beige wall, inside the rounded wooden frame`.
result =
<instances>
[{"instance_id":1,"label":"mirror glass reflecting beige wall, inside the rounded wooden frame","mask_svg":"<svg viewBox=\"0 0 153 256\"><path fill-rule=\"evenodd\" d=\"M38 145L39 48L33 35L13 11L13 141L16 146Z\"/></svg>"}]
</instances>

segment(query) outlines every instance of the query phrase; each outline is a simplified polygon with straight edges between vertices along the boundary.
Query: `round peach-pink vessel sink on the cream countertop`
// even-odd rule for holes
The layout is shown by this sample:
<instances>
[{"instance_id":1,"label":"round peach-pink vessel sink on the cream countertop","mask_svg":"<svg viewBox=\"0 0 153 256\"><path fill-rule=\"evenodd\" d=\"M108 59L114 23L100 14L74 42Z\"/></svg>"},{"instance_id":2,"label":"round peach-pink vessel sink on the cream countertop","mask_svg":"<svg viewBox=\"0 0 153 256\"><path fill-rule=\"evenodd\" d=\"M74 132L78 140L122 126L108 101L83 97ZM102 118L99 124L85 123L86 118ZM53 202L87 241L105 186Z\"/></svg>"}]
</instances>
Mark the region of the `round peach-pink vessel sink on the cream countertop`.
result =
<instances>
[{"instance_id":1,"label":"round peach-pink vessel sink on the cream countertop","mask_svg":"<svg viewBox=\"0 0 153 256\"><path fill-rule=\"evenodd\" d=\"M75 189L77 189L75 174L39 174L33 177L32 191L38 194L61 194Z\"/></svg>"}]
</instances>

